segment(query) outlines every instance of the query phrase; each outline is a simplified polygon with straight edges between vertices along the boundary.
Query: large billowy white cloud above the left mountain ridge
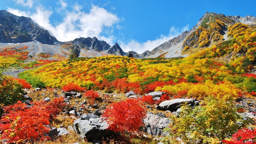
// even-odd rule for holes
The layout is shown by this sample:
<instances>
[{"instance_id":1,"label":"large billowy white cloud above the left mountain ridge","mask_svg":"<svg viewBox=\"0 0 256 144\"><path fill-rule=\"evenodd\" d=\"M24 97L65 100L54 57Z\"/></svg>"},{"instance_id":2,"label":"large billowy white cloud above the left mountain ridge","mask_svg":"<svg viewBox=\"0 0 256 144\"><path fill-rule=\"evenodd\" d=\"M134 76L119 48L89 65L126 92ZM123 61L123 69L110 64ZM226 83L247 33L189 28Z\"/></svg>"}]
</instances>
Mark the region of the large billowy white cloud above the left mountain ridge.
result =
<instances>
[{"instance_id":1,"label":"large billowy white cloud above the left mountain ridge","mask_svg":"<svg viewBox=\"0 0 256 144\"><path fill-rule=\"evenodd\" d=\"M53 26L50 23L52 11L37 7L35 13L23 12L17 9L8 8L7 11L18 16L31 17L40 26L50 30L59 41L70 41L79 37L97 37L98 39L108 40L107 43L112 43L113 36L106 38L100 33L104 27L111 27L119 21L119 18L107 12L106 9L92 5L90 12L81 12L81 6L75 5L73 12L66 12L66 17L63 22Z\"/></svg>"}]
</instances>

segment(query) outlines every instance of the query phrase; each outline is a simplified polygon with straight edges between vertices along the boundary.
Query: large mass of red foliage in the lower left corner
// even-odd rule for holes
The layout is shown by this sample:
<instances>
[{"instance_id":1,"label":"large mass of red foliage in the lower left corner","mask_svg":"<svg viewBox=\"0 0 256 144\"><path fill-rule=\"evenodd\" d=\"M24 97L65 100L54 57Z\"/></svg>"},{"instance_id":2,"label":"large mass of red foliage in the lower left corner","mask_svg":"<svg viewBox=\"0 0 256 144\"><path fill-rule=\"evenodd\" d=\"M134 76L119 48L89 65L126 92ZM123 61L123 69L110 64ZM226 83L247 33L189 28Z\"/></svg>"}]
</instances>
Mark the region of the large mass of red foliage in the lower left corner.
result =
<instances>
[{"instance_id":1,"label":"large mass of red foliage in the lower left corner","mask_svg":"<svg viewBox=\"0 0 256 144\"><path fill-rule=\"evenodd\" d=\"M64 98L55 98L52 101L36 101L30 108L27 104L18 101L14 105L5 106L4 116L0 119L0 131L2 139L8 139L10 143L23 142L34 143L38 139L49 139L47 132L50 120L66 106ZM20 142L22 142L20 141Z\"/></svg>"}]
</instances>

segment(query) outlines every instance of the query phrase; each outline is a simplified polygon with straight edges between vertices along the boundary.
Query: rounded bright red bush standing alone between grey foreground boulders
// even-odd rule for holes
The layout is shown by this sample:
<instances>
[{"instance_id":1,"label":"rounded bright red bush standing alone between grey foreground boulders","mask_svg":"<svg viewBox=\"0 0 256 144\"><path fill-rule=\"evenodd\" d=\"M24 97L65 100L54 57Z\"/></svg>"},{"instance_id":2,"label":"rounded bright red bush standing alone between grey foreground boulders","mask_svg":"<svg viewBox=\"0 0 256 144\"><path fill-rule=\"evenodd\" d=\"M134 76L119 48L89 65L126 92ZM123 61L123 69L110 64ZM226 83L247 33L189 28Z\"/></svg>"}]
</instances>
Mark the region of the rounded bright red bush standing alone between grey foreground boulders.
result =
<instances>
[{"instance_id":1,"label":"rounded bright red bush standing alone between grey foreground boulders","mask_svg":"<svg viewBox=\"0 0 256 144\"><path fill-rule=\"evenodd\" d=\"M127 138L132 138L136 133L140 133L138 129L144 126L142 120L145 116L145 106L136 99L112 103L103 114L103 118L109 124L108 129Z\"/></svg>"}]
</instances>

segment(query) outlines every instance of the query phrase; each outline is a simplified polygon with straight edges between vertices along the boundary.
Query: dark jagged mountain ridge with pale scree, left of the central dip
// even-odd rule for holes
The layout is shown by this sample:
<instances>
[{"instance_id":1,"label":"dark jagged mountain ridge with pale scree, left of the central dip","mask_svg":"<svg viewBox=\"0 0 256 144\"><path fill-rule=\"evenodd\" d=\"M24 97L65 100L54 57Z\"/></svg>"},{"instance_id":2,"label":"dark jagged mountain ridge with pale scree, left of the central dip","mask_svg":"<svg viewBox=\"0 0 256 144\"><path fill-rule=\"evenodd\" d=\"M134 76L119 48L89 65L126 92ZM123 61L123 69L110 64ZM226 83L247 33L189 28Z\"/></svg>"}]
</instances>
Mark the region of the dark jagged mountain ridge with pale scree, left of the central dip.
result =
<instances>
[{"instance_id":1,"label":"dark jagged mountain ridge with pale scree, left of the central dip","mask_svg":"<svg viewBox=\"0 0 256 144\"><path fill-rule=\"evenodd\" d=\"M58 41L51 33L29 17L16 16L6 10L0 11L0 50L8 47L28 46L29 55L47 59L63 60L74 57L96 57L106 55L126 55L116 43L112 47L96 37L76 38L71 41Z\"/></svg>"}]
</instances>

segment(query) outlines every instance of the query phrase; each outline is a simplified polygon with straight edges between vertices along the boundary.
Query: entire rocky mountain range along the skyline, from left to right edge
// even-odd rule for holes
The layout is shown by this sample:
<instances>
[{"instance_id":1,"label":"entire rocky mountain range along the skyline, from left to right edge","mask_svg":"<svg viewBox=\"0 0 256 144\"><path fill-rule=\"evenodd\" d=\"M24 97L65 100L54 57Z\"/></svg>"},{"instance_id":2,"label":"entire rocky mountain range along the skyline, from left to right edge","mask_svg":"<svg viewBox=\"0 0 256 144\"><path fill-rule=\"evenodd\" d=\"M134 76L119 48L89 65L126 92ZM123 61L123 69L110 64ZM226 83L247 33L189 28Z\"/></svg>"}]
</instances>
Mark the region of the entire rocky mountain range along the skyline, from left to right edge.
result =
<instances>
[{"instance_id":1,"label":"entire rocky mountain range along the skyline, from left to right edge","mask_svg":"<svg viewBox=\"0 0 256 144\"><path fill-rule=\"evenodd\" d=\"M228 28L238 23L255 25L256 17L205 13L191 30L166 41L152 51L138 54L134 51L123 52L117 43L110 46L106 41L98 40L96 37L80 37L61 42L31 18L16 16L6 10L1 10L0 49L1 47L3 49L6 47L21 48L28 46L26 51L33 57L39 57L40 53L43 53L50 55L47 59L61 60L106 55L129 56L137 59L186 57L231 39L231 35L228 34L231 30ZM240 26L240 28L243 28L243 26Z\"/></svg>"}]
</instances>

